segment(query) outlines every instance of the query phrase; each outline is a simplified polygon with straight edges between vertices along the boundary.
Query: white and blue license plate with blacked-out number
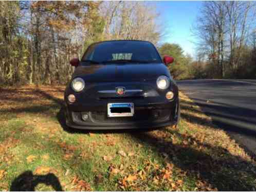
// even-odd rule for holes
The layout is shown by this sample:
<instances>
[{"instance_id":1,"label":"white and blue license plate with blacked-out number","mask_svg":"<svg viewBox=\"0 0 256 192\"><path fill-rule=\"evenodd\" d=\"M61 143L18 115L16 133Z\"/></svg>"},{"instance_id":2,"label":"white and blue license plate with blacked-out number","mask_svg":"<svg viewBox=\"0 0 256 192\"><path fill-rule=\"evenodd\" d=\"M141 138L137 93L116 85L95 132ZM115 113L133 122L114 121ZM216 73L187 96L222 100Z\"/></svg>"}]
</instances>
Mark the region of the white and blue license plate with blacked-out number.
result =
<instances>
[{"instance_id":1,"label":"white and blue license plate with blacked-out number","mask_svg":"<svg viewBox=\"0 0 256 192\"><path fill-rule=\"evenodd\" d=\"M133 103L107 103L108 117L132 117L133 115Z\"/></svg>"}]
</instances>

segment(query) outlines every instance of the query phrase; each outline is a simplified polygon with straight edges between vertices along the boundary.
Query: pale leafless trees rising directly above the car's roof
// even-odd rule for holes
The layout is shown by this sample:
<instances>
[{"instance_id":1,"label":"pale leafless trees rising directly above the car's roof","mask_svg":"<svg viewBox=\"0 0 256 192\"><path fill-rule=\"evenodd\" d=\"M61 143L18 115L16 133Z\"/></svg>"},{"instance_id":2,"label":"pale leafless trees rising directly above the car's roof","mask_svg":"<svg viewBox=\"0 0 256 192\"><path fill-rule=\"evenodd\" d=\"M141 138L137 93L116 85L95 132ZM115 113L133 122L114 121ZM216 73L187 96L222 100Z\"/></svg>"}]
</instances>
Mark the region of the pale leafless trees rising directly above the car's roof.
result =
<instances>
[{"instance_id":1,"label":"pale leafless trees rising directly above the car's roof","mask_svg":"<svg viewBox=\"0 0 256 192\"><path fill-rule=\"evenodd\" d=\"M101 10L106 21L104 39L149 40L157 44L161 37L156 24L159 14L147 3L110 1L104 2Z\"/></svg>"}]
</instances>

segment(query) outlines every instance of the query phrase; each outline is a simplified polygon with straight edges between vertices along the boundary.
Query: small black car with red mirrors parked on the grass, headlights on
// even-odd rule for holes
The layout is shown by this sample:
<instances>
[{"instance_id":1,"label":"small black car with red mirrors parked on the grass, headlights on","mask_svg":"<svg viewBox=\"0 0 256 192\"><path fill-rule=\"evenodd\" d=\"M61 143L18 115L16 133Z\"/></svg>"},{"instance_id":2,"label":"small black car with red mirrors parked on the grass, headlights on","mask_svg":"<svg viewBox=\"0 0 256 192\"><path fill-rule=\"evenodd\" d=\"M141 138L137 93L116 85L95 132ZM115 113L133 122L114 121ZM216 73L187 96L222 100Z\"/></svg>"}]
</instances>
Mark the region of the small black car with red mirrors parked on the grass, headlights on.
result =
<instances>
[{"instance_id":1,"label":"small black car with red mirrors parked on the grass, headlights on","mask_svg":"<svg viewBox=\"0 0 256 192\"><path fill-rule=\"evenodd\" d=\"M175 125L178 88L148 41L114 40L92 44L75 66L65 90L66 124L86 130Z\"/></svg>"}]
</instances>

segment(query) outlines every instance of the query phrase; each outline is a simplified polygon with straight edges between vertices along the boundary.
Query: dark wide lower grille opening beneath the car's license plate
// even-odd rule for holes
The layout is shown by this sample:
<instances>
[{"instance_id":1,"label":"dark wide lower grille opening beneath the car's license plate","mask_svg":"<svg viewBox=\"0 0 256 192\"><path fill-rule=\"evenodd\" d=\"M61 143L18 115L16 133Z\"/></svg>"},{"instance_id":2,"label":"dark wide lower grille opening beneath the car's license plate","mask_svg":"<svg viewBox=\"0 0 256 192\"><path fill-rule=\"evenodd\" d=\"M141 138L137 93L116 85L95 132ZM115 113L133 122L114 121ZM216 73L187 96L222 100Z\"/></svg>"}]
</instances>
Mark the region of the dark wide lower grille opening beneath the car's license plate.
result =
<instances>
[{"instance_id":1,"label":"dark wide lower grille opening beneath the car's license plate","mask_svg":"<svg viewBox=\"0 0 256 192\"><path fill-rule=\"evenodd\" d=\"M158 114L158 117L155 116ZM167 119L170 110L135 110L133 117L107 117L106 112L92 112L91 117L100 123L135 123L135 122L157 122Z\"/></svg>"}]
</instances>

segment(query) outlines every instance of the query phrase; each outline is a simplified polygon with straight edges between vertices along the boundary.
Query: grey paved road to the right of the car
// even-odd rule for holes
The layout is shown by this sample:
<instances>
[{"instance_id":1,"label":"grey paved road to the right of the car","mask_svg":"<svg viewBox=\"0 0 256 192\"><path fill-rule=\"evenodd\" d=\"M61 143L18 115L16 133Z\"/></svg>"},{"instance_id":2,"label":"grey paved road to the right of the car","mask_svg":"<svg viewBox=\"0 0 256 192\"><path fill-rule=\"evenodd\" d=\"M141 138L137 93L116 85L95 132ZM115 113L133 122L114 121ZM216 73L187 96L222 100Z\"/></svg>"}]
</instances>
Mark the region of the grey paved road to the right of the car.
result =
<instances>
[{"instance_id":1,"label":"grey paved road to the right of the car","mask_svg":"<svg viewBox=\"0 0 256 192\"><path fill-rule=\"evenodd\" d=\"M256 80L184 80L177 84L256 157Z\"/></svg>"}]
</instances>

